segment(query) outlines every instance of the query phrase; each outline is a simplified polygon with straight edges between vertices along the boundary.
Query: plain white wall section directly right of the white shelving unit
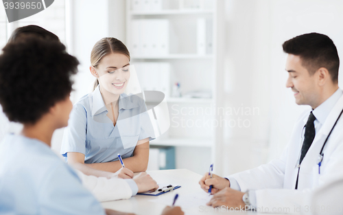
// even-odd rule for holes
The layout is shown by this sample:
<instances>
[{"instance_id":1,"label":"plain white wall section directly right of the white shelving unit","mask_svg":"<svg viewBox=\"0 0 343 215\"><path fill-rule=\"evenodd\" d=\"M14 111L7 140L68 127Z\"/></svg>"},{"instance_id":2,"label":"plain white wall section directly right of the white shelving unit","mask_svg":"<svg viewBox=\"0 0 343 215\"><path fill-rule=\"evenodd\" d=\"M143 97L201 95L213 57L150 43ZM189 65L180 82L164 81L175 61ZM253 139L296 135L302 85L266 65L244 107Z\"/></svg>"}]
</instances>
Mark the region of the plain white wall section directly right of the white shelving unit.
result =
<instances>
[{"instance_id":1,"label":"plain white wall section directly right of the white shelving unit","mask_svg":"<svg viewBox=\"0 0 343 215\"><path fill-rule=\"evenodd\" d=\"M223 99L224 106L237 113L226 115L226 120L236 126L224 128L224 175L266 161L270 129L269 19L268 3L226 1ZM239 122L246 122L246 127Z\"/></svg>"}]
</instances>

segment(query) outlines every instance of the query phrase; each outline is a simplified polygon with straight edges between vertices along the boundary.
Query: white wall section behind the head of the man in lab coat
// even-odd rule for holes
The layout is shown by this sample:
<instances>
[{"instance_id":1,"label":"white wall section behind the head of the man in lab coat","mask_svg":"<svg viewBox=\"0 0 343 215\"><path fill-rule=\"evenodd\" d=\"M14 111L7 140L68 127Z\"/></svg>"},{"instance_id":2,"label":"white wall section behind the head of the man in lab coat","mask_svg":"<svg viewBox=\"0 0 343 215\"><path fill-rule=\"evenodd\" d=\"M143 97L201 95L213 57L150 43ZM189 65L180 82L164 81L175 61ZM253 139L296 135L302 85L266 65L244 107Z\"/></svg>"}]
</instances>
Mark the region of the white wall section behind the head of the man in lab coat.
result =
<instances>
[{"instance_id":1,"label":"white wall section behind the head of the man in lab coat","mask_svg":"<svg viewBox=\"0 0 343 215\"><path fill-rule=\"evenodd\" d=\"M281 44L299 34L318 32L329 36L338 49L338 55L343 59L343 1L302 0L302 1L270 1L270 76L273 82L270 92L271 99L271 133L270 158L276 157L285 146L292 130L292 124L304 109L294 103L293 93L285 90L286 55L280 52ZM342 66L341 66L342 68ZM280 71L280 72L279 72ZM340 69L342 71L342 69ZM342 82L342 76L339 76ZM342 87L342 84L340 83ZM283 114L285 113L285 114ZM285 122L283 129L280 122Z\"/></svg>"}]
</instances>

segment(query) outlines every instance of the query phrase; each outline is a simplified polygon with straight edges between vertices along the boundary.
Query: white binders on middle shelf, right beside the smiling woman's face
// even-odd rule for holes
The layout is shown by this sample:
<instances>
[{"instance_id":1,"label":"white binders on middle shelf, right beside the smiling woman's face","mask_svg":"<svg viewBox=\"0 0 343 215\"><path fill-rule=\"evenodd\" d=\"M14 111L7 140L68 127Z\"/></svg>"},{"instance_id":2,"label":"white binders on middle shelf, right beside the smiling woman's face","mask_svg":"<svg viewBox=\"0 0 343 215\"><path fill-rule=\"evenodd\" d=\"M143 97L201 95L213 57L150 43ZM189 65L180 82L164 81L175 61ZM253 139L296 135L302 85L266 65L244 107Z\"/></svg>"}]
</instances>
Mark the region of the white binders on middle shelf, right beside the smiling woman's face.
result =
<instances>
[{"instance_id":1,"label":"white binders on middle shelf, right beside the smiling woman's face","mask_svg":"<svg viewBox=\"0 0 343 215\"><path fill-rule=\"evenodd\" d=\"M137 62L134 63L141 89L143 91L161 91L169 97L170 63Z\"/></svg>"}]
</instances>

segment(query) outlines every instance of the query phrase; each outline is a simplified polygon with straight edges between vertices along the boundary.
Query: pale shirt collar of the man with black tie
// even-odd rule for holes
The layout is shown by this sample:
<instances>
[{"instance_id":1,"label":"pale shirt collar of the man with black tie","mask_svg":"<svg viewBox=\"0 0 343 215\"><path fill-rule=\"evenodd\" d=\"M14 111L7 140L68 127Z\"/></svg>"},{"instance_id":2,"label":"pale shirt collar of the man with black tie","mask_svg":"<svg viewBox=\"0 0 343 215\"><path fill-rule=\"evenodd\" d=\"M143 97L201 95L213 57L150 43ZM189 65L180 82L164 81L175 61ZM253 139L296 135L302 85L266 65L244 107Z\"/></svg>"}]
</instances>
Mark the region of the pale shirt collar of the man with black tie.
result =
<instances>
[{"instance_id":1,"label":"pale shirt collar of the man with black tie","mask_svg":"<svg viewBox=\"0 0 343 215\"><path fill-rule=\"evenodd\" d=\"M320 124L324 124L327 116L333 109L333 106L335 106L338 100L340 100L342 95L342 90L338 88L338 90L335 91L335 93L333 93L327 100L325 100L325 102L322 102L322 104L320 104L316 109L312 111L312 113L316 117L316 120L318 120Z\"/></svg>"}]
</instances>

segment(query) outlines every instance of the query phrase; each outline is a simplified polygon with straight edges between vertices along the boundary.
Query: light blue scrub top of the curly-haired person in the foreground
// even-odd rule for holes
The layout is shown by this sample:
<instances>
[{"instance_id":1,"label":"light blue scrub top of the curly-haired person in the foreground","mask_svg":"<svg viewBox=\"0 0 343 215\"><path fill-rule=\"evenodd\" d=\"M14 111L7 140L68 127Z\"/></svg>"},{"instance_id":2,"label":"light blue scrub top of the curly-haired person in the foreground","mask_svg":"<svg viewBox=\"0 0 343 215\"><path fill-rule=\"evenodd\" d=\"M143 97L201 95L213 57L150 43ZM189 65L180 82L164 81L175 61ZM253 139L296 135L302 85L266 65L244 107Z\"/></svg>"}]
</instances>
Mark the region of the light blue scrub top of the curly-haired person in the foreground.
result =
<instances>
[{"instance_id":1,"label":"light blue scrub top of the curly-haired person in the foreground","mask_svg":"<svg viewBox=\"0 0 343 215\"><path fill-rule=\"evenodd\" d=\"M105 212L47 144L9 134L0 143L0 214Z\"/></svg>"}]
</instances>

